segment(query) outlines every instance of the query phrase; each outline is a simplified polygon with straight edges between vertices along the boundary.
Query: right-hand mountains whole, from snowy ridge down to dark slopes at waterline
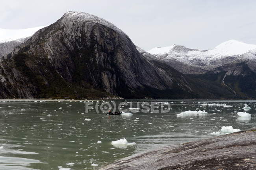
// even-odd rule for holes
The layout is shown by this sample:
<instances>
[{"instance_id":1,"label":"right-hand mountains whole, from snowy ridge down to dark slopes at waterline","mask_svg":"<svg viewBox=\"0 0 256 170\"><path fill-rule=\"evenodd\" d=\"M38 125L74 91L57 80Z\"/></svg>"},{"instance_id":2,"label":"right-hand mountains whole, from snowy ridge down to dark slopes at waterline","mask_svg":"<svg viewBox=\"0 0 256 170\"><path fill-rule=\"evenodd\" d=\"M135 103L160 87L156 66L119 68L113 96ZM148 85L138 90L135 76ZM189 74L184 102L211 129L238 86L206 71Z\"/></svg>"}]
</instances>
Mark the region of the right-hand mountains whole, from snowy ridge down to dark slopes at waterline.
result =
<instances>
[{"instance_id":1,"label":"right-hand mountains whole, from snowy ridge down to dark slopes at waterline","mask_svg":"<svg viewBox=\"0 0 256 170\"><path fill-rule=\"evenodd\" d=\"M256 45L229 40L210 50L173 45L153 48L148 53L192 80L229 90L234 98L256 97Z\"/></svg>"}]
</instances>

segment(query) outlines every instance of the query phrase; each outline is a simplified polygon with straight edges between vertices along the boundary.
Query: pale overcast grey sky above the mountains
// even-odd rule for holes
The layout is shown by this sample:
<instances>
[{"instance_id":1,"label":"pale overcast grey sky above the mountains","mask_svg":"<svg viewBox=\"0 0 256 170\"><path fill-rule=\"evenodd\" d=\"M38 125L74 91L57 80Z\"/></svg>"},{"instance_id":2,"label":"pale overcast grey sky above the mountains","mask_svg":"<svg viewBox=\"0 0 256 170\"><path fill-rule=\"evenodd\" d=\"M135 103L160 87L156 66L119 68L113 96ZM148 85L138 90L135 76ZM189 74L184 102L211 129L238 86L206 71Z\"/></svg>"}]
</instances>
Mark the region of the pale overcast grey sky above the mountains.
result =
<instances>
[{"instance_id":1,"label":"pale overcast grey sky above the mountains","mask_svg":"<svg viewBox=\"0 0 256 170\"><path fill-rule=\"evenodd\" d=\"M212 49L234 39L256 44L256 0L0 0L0 28L56 22L68 11L100 16L148 51L173 44Z\"/></svg>"}]
</instances>

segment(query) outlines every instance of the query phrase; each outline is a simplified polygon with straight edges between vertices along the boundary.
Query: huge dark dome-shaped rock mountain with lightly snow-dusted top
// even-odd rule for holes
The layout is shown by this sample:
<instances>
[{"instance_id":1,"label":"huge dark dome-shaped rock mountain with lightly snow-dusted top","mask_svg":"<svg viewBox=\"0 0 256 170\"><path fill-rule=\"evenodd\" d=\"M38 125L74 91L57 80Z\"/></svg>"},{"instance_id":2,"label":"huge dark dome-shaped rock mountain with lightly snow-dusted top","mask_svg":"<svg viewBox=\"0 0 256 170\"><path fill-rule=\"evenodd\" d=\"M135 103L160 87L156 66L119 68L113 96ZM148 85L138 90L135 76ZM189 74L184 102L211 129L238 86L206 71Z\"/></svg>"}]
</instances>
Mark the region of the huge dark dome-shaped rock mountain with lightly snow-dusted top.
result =
<instances>
[{"instance_id":1,"label":"huge dark dome-shaped rock mountain with lightly snow-dusted top","mask_svg":"<svg viewBox=\"0 0 256 170\"><path fill-rule=\"evenodd\" d=\"M4 58L0 98L198 97L182 73L88 13L65 13Z\"/></svg>"}]
</instances>

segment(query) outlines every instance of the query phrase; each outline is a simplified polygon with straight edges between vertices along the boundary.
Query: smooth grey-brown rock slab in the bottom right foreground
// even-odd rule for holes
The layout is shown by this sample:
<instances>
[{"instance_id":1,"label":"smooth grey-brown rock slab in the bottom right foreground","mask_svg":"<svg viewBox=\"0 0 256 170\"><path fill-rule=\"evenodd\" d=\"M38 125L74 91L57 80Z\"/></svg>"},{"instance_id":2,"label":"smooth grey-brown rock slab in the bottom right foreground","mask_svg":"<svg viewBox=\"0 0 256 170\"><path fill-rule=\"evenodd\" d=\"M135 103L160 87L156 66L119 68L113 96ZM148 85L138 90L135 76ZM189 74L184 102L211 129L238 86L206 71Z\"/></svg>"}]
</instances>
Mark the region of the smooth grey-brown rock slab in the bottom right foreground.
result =
<instances>
[{"instance_id":1,"label":"smooth grey-brown rock slab in the bottom right foreground","mask_svg":"<svg viewBox=\"0 0 256 170\"><path fill-rule=\"evenodd\" d=\"M100 170L255 170L256 130L163 147Z\"/></svg>"}]
</instances>

